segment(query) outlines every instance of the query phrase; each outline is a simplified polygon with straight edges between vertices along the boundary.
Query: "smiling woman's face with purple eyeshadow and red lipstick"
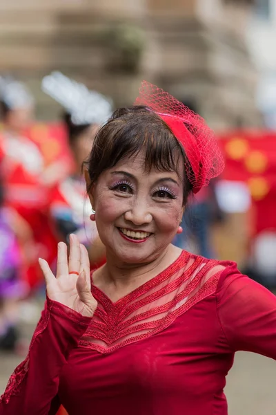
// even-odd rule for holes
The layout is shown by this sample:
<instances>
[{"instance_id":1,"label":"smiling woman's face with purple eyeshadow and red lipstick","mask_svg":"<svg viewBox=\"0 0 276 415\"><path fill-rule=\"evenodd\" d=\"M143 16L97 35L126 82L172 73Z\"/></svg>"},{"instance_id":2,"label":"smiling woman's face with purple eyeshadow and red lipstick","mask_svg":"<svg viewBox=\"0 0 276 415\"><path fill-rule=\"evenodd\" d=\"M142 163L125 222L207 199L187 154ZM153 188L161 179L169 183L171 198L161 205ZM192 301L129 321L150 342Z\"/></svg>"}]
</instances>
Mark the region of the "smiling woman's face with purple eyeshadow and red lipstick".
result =
<instances>
[{"instance_id":1,"label":"smiling woman's face with purple eyeshadow and red lipstick","mask_svg":"<svg viewBox=\"0 0 276 415\"><path fill-rule=\"evenodd\" d=\"M147 172L140 153L103 172L90 199L107 256L125 264L157 259L177 233L183 198L182 160L177 172Z\"/></svg>"}]
</instances>

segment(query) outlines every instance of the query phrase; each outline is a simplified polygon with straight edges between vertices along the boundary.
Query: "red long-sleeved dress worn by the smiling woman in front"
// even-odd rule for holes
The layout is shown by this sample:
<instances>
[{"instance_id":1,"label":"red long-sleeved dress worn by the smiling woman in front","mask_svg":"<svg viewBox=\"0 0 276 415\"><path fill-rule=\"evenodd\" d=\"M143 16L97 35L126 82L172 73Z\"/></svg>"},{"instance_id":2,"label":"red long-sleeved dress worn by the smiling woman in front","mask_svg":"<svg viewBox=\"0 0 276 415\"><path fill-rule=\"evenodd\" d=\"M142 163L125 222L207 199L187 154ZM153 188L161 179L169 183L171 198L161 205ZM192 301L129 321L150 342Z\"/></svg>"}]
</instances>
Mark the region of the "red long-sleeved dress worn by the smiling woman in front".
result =
<instances>
[{"instance_id":1,"label":"red long-sleeved dress worn by the smiling woman in front","mask_svg":"<svg viewBox=\"0 0 276 415\"><path fill-rule=\"evenodd\" d=\"M48 299L0 414L226 415L235 351L276 359L276 297L231 262L182 252L90 319Z\"/></svg>"}]
</instances>

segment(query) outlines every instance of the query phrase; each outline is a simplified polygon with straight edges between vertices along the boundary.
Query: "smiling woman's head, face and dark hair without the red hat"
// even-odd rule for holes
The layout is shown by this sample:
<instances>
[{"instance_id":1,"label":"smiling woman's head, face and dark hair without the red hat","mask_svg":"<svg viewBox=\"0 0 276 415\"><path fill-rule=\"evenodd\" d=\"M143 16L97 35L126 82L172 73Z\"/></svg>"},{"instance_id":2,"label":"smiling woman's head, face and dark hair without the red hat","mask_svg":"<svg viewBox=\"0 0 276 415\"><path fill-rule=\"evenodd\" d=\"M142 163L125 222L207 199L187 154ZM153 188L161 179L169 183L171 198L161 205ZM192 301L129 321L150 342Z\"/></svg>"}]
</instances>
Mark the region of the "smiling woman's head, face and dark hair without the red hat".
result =
<instances>
[{"instance_id":1,"label":"smiling woman's head, face and dark hair without the red hat","mask_svg":"<svg viewBox=\"0 0 276 415\"><path fill-rule=\"evenodd\" d=\"M122 269L175 257L178 248L170 242L192 186L185 151L158 114L139 106L117 109L85 165L107 262Z\"/></svg>"}]
</instances>

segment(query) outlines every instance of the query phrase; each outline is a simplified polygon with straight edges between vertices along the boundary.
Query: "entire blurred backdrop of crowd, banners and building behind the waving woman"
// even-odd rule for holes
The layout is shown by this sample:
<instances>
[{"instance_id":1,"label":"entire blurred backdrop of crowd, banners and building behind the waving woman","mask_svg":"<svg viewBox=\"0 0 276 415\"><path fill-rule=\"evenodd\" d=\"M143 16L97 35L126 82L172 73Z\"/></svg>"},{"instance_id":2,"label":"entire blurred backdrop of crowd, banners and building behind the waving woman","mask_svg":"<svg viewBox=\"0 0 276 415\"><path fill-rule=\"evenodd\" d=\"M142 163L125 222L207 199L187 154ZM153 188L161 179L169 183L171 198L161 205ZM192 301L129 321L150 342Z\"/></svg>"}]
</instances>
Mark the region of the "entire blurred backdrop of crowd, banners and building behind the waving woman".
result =
<instances>
[{"instance_id":1,"label":"entire blurred backdrop of crowd, banners and building behind the waving woman","mask_svg":"<svg viewBox=\"0 0 276 415\"><path fill-rule=\"evenodd\" d=\"M236 261L275 292L275 50L276 0L0 1L1 393L43 308L37 257L55 269L57 241L76 232L104 261L81 161L141 80L203 116L226 160L175 244ZM229 414L274 415L275 381L275 362L237 353Z\"/></svg>"}]
</instances>

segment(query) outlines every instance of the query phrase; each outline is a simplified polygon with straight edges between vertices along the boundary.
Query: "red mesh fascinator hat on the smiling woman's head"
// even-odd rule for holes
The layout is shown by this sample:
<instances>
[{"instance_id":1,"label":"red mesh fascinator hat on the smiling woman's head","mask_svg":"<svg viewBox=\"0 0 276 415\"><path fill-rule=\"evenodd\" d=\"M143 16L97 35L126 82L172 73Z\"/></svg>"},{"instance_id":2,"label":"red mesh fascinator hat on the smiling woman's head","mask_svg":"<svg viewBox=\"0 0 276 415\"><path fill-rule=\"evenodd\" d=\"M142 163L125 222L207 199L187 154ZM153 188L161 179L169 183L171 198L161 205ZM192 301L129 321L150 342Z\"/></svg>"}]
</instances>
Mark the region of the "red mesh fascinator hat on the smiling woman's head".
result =
<instances>
[{"instance_id":1,"label":"red mesh fascinator hat on the smiling woman's head","mask_svg":"<svg viewBox=\"0 0 276 415\"><path fill-rule=\"evenodd\" d=\"M224 169L224 158L215 134L203 118L157 86L143 81L135 105L155 111L184 147L186 174L197 193Z\"/></svg>"}]
</instances>

